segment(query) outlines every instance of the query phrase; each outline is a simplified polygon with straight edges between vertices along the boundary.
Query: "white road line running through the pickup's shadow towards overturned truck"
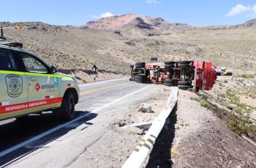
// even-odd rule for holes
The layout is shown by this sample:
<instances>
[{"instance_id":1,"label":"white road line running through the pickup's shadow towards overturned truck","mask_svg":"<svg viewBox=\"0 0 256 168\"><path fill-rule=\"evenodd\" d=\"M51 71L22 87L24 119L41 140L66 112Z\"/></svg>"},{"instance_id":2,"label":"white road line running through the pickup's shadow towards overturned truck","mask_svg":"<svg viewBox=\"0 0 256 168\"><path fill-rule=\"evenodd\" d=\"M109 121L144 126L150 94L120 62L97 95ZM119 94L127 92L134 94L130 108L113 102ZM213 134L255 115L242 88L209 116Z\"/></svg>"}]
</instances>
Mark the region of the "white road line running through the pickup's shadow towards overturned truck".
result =
<instances>
[{"instance_id":1,"label":"white road line running through the pickup's shadow towards overturned truck","mask_svg":"<svg viewBox=\"0 0 256 168\"><path fill-rule=\"evenodd\" d=\"M154 84L152 84L152 85L154 85ZM50 130L48 130L48 131L46 131L46 132L44 132L44 133L41 133L41 134L39 134L39 135L36 135L36 136L32 137L31 139L28 139L27 141L24 141L23 143L20 143L20 144L18 144L18 145L15 145L14 147L11 147L11 148L9 148L9 149L6 149L6 150L4 150L3 152L0 152L0 157L4 156L4 155L6 155L6 154L8 154L8 153L10 153L10 152L12 152L12 151L15 151L15 150L17 150L17 149L19 149L19 148L21 148L21 147L24 147L25 145L27 145L27 144L29 144L29 143L31 143L31 142L33 142L33 141L36 141L37 139L40 139L40 138L42 138L42 137L44 137L44 136L46 136L46 135L48 135L48 134L50 134L50 133L52 133L52 132L54 132L54 131L60 129L60 128L63 128L63 127L65 127L65 126L67 126L67 125L69 125L69 124L71 124L71 123L74 123L74 122L76 122L76 121L78 121L78 120L80 120L80 119L82 119L82 118L84 118L84 117L87 117L87 116L89 116L90 114L95 113L95 112L101 110L101 109L104 108L104 107L108 107L108 106L110 106L110 105L112 105L112 104L114 104L114 103L116 103L116 102L118 102L118 101L120 101L120 100L122 100L122 99L124 99L124 98L126 98L126 97L129 97L129 96L131 96L131 95L133 95L133 94L135 94L135 93L137 93L137 92L140 92L140 91L142 91L142 90L144 90L144 89L147 89L147 88L151 87L152 85L146 86L146 87L144 87L144 88L142 88L142 89L139 89L139 90L137 90L137 91L135 91L135 92L133 92L133 93L130 93L130 94L126 95L126 96L123 96L123 97L121 97L121 98L119 98L119 99L116 99L116 100L110 102L109 104L105 104L105 105L103 105L103 106L101 106L101 107L99 107L99 108L97 108L97 109L95 109L95 110L93 110L93 111L91 111L91 112L89 112L89 113L86 113L86 114L84 114L84 115L82 115L82 116L80 116L80 117L78 117L78 118L76 118L76 119L74 119L74 120L72 120L72 121L69 121L69 122L67 122L67 123L60 124L60 125L58 125L58 126L55 127L55 128L52 128L52 129L50 129Z\"/></svg>"}]
</instances>

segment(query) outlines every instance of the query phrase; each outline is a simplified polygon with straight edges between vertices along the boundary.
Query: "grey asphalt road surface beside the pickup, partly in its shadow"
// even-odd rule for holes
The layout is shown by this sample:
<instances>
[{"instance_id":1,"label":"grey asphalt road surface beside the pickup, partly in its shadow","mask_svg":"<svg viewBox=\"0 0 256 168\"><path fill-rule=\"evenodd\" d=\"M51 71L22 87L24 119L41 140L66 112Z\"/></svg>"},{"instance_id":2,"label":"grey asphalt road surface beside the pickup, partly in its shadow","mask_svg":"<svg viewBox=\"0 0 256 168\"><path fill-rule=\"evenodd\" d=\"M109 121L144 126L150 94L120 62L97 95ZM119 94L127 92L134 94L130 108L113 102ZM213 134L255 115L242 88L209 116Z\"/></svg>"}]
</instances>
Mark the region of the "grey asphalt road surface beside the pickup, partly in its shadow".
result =
<instances>
[{"instance_id":1,"label":"grey asphalt road surface beside the pickup, partly in its shadow","mask_svg":"<svg viewBox=\"0 0 256 168\"><path fill-rule=\"evenodd\" d=\"M128 78L83 84L76 117L71 122L51 113L30 115L23 121L2 121L0 165L69 166L101 138L111 122L121 119L122 111L135 108L157 88Z\"/></svg>"}]
</instances>

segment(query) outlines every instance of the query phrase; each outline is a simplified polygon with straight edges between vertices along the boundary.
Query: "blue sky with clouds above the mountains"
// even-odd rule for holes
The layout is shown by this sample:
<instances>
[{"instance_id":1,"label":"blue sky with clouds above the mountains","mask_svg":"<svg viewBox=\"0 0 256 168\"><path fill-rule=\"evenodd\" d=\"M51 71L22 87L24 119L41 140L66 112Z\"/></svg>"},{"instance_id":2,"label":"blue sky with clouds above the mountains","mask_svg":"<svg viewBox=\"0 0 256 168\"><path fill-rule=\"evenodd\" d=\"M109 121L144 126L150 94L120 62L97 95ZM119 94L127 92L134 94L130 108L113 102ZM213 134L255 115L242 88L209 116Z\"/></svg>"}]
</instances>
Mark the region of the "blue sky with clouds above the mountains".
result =
<instances>
[{"instance_id":1,"label":"blue sky with clouds above the mountains","mask_svg":"<svg viewBox=\"0 0 256 168\"><path fill-rule=\"evenodd\" d=\"M240 24L256 18L256 0L9 0L1 3L0 21L42 21L57 25L80 25L124 13L190 25Z\"/></svg>"}]
</instances>

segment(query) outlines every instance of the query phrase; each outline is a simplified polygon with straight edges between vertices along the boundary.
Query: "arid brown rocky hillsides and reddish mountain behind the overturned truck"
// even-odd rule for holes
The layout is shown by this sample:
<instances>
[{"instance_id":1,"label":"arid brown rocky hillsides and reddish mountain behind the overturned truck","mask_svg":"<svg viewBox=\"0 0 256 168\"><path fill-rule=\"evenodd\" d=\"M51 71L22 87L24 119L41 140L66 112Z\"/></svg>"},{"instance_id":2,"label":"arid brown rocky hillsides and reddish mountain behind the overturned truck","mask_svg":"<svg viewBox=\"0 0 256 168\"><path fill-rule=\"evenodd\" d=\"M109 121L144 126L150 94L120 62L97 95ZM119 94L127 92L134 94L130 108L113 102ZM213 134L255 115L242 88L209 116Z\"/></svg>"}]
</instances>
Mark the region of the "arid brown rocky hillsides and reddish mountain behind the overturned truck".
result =
<instances>
[{"instance_id":1,"label":"arid brown rocky hillsides and reddish mountain behind the overturned truck","mask_svg":"<svg viewBox=\"0 0 256 168\"><path fill-rule=\"evenodd\" d=\"M0 22L8 41L22 42L49 64L66 72L89 73L95 63L108 74L129 74L130 64L165 60L204 60L217 66L255 72L255 19L240 25L195 27L160 17L124 14L89 21L81 26L42 22Z\"/></svg>"}]
</instances>

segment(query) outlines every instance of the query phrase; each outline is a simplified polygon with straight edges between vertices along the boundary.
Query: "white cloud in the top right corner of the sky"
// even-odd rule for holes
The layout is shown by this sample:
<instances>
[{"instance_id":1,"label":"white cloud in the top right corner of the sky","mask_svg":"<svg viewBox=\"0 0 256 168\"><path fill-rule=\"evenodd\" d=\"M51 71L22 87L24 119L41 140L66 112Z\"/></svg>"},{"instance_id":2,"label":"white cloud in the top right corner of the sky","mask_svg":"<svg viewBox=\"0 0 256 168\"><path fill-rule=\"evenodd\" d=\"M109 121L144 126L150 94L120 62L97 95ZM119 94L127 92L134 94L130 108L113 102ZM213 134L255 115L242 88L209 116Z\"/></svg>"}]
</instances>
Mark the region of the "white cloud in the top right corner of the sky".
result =
<instances>
[{"instance_id":1,"label":"white cloud in the top right corner of the sky","mask_svg":"<svg viewBox=\"0 0 256 168\"><path fill-rule=\"evenodd\" d=\"M254 4L253 7L251 7L250 5L244 6L241 4L237 4L235 7L231 8L231 10L226 14L226 16L236 16L242 13L247 13L247 17L254 17L256 15L256 4Z\"/></svg>"}]
</instances>

